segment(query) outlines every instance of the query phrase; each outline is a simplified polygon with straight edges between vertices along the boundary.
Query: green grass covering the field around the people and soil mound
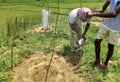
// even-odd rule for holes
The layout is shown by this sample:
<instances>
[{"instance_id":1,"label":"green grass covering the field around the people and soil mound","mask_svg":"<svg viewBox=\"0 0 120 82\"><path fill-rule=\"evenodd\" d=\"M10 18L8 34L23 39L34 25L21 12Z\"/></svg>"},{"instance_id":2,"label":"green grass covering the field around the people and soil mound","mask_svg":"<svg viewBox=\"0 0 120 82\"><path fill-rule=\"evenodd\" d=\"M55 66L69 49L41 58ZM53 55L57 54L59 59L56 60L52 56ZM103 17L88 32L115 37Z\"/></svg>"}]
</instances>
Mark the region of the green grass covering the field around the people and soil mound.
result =
<instances>
[{"instance_id":1,"label":"green grass covering the field around the people and soil mound","mask_svg":"<svg viewBox=\"0 0 120 82\"><path fill-rule=\"evenodd\" d=\"M84 0L83 7L89 7L91 9L98 9L103 0ZM8 3L10 2L10 3ZM21 2L21 3L20 3ZM54 2L54 3L53 3ZM65 1L60 3L60 13L68 15L72 8L80 7L78 0ZM52 42L54 40L54 30L45 32L43 35L26 33L27 29L33 29L33 27L37 24L41 24L41 9L43 6L43 1L35 1L35 0L0 0L0 82L9 82L9 72L11 65L11 36L7 36L8 33L8 25L10 23L11 28L15 27L15 19L18 18L18 29L24 27L26 29L22 29L18 32L19 37L25 36L25 40L22 42L14 43L14 65L19 65L20 62L24 60L26 55L30 55L34 53L35 49L42 50L44 53L48 54L51 52L49 49L52 46ZM48 3L47 3L48 5ZM55 0L49 1L50 7L57 7L57 3ZM65 9L67 8L67 9ZM69 9L70 8L70 9ZM56 23L57 12L56 8L50 8L50 22ZM63 54L66 54L67 51L70 50L69 46L69 33L68 33L68 21L66 15L59 15L59 19L57 22L57 35L56 41L63 42L62 44L56 44L55 49L60 51ZM98 18L93 18L96 21ZM13 26L12 26L13 25ZM92 67L91 62L94 61L95 53L94 53L94 39L96 37L98 31L98 26L91 24L91 27L87 33L87 44L84 47L84 55L82 57L83 66L80 67L81 73L84 76L86 82L119 82L120 79L120 48L115 47L114 55L111 59L110 68L107 71L100 71L98 67ZM10 38L9 38L10 37ZM9 40L8 40L9 38ZM107 42L103 41L101 49L101 59L105 59L105 54L107 52ZM76 55L79 55L77 53Z\"/></svg>"}]
</instances>

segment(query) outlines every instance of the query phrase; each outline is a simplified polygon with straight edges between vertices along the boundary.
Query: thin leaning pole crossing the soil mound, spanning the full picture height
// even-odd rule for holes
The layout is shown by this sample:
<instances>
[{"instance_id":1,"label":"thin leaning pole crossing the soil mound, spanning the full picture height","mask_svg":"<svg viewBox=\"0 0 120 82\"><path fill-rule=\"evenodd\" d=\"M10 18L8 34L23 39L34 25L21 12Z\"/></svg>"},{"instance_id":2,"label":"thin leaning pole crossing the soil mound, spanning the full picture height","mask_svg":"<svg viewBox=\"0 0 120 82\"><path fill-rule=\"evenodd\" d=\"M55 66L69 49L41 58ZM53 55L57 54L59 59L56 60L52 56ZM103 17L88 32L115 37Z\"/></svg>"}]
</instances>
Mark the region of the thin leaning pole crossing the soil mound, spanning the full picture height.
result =
<instances>
[{"instance_id":1,"label":"thin leaning pole crossing the soil mound, spanning the full picture height","mask_svg":"<svg viewBox=\"0 0 120 82\"><path fill-rule=\"evenodd\" d=\"M50 66L51 66L52 59L53 59L53 56L54 56L54 51L55 51L56 31L57 31L58 18L59 18L59 9L60 9L60 8L59 8L59 5L60 5L60 2L59 2L59 0L58 0L58 8L57 8L58 14L57 14L57 16L56 16L55 29L54 29L54 35L53 35L52 55L51 55L49 64L46 66L46 77L45 77L45 82L47 82L48 73L49 73L49 70L50 70Z\"/></svg>"}]
</instances>

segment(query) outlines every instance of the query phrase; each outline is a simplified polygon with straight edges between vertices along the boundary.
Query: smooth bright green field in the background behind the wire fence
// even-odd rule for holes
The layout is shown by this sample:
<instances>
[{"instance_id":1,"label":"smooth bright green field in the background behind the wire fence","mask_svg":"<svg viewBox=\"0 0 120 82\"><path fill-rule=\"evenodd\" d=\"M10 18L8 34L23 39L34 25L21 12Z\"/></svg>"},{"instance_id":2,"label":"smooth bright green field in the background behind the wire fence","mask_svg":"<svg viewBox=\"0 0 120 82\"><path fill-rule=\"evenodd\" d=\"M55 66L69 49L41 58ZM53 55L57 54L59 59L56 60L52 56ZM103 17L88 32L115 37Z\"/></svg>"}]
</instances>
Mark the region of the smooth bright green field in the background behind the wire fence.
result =
<instances>
[{"instance_id":1,"label":"smooth bright green field in the background behind the wire fence","mask_svg":"<svg viewBox=\"0 0 120 82\"><path fill-rule=\"evenodd\" d=\"M37 3L0 3L0 36L6 35L7 29L7 21L10 19L14 19L18 17L19 19L24 19L24 17L32 17L32 16L40 16L41 17L41 7L43 6L43 2ZM40 5L41 4L41 5ZM60 13L68 14L72 8L80 7L79 3L71 3L70 6L67 3L60 3ZM83 7L89 7L91 9L97 9L96 5L100 5L101 3L83 3ZM56 3L49 3L50 7L57 7ZM63 9L70 8L70 9ZM57 9L51 8L51 13L57 12ZM22 21L22 20L21 20ZM51 20L53 21L53 19ZM40 20L41 23L41 20Z\"/></svg>"}]
</instances>

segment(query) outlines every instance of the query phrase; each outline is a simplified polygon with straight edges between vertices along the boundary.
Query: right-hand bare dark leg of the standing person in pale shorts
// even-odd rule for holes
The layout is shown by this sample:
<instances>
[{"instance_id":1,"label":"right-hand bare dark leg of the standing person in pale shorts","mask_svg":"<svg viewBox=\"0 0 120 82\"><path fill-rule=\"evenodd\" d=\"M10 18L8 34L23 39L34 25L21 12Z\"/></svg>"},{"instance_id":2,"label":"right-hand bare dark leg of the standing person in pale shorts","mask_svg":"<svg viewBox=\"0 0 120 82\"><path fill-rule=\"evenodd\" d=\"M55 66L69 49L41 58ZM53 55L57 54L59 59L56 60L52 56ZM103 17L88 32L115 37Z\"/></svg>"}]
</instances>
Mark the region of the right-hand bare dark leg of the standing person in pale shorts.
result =
<instances>
[{"instance_id":1,"label":"right-hand bare dark leg of the standing person in pale shorts","mask_svg":"<svg viewBox=\"0 0 120 82\"><path fill-rule=\"evenodd\" d=\"M106 60L105 60L105 62L104 62L104 65L102 66L102 69L107 69L107 67L108 67L108 62L109 62L110 58L112 57L113 52L114 52L114 45L108 43L107 57L106 57Z\"/></svg>"}]
</instances>

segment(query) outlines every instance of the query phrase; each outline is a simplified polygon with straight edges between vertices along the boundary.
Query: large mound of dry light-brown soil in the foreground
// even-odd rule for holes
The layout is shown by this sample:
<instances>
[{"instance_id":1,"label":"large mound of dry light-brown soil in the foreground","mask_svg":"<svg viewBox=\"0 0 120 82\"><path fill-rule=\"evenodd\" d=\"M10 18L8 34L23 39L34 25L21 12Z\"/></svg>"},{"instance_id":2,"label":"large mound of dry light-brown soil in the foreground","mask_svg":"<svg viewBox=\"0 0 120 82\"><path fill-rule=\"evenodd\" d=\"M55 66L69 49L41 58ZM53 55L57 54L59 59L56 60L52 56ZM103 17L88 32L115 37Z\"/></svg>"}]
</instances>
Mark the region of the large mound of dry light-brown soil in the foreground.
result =
<instances>
[{"instance_id":1,"label":"large mound of dry light-brown soil in the foreground","mask_svg":"<svg viewBox=\"0 0 120 82\"><path fill-rule=\"evenodd\" d=\"M49 67L50 59L37 51L13 69L11 82L84 82L71 71L78 64L78 57L54 54Z\"/></svg>"}]
</instances>

